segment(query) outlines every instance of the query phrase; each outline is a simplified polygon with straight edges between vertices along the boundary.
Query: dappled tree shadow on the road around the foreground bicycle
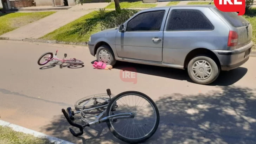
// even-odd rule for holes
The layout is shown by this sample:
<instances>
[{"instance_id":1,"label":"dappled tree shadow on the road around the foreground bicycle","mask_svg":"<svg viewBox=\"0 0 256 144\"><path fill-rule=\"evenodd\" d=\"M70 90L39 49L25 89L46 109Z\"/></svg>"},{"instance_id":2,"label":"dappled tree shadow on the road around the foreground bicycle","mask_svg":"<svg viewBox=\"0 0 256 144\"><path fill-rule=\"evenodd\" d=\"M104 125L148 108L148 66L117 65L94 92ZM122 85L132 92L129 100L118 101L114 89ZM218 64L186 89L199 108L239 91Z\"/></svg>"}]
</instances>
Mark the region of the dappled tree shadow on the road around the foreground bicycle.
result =
<instances>
[{"instance_id":1,"label":"dappled tree shadow on the road around the foreground bicycle","mask_svg":"<svg viewBox=\"0 0 256 144\"><path fill-rule=\"evenodd\" d=\"M155 100L160 112L160 124L156 133L145 143L256 143L256 90L236 86L218 87L220 91L209 91L207 94L167 93L160 96ZM41 130L77 144L124 143L112 135L105 123L85 128L84 134L77 138L68 131L69 127L60 110L51 124L44 125Z\"/></svg>"}]
</instances>

